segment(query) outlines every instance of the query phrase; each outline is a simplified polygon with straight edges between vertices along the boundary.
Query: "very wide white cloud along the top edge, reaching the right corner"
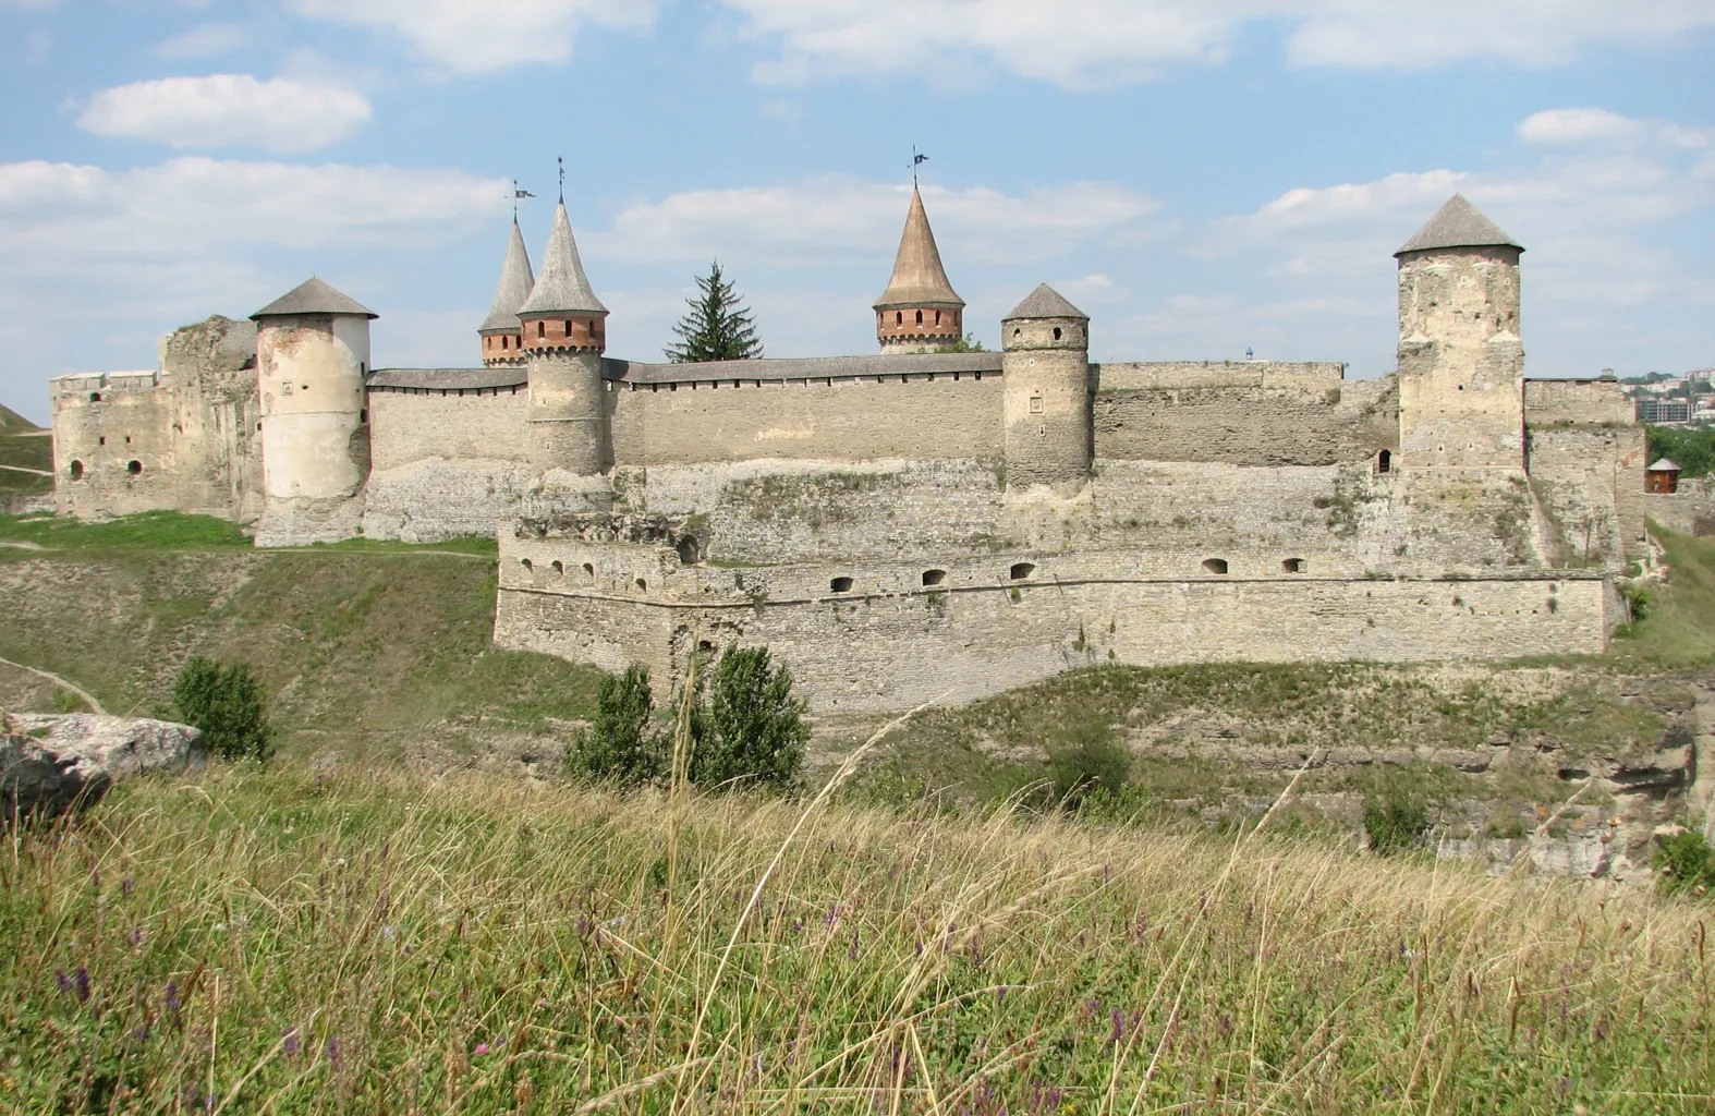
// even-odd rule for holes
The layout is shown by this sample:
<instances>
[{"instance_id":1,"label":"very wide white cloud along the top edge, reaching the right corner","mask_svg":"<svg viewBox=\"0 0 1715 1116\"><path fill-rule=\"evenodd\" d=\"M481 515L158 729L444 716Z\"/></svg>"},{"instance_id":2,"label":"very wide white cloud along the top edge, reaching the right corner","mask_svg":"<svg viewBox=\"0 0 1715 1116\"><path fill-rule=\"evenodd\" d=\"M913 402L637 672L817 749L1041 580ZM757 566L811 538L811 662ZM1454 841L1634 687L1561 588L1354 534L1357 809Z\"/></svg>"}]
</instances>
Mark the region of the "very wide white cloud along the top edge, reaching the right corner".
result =
<instances>
[{"instance_id":1,"label":"very wide white cloud along the top edge, reaching the right corner","mask_svg":"<svg viewBox=\"0 0 1715 1116\"><path fill-rule=\"evenodd\" d=\"M1463 58L1566 62L1590 43L1665 41L1715 24L1715 0L724 0L780 45L763 81L943 74L995 65L1063 86L1219 62L1250 24L1290 27L1298 65L1425 69Z\"/></svg>"}]
</instances>

